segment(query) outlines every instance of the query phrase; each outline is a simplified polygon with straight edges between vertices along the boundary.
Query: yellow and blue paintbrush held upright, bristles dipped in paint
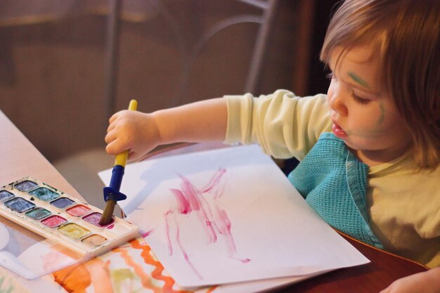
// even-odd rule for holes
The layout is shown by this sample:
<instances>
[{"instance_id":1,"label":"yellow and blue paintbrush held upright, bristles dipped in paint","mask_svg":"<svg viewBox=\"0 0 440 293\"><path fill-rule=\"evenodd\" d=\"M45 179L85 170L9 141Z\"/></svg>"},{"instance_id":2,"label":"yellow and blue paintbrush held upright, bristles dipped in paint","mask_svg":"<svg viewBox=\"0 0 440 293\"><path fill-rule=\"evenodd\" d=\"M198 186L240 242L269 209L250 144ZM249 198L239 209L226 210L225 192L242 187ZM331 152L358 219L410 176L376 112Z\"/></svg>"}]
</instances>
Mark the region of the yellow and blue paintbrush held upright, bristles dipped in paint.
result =
<instances>
[{"instance_id":1,"label":"yellow and blue paintbrush held upright, bristles dipped in paint","mask_svg":"<svg viewBox=\"0 0 440 293\"><path fill-rule=\"evenodd\" d=\"M129 110L136 111L136 108L138 108L138 102L136 102L136 100L131 100ZM110 185L104 188L104 200L106 203L103 215L99 221L100 225L107 225L110 223L112 220L113 211L115 211L116 202L118 200L125 200L127 198L127 195L120 193L119 189L121 188L122 176L124 176L125 164L127 164L128 157L128 150L116 155Z\"/></svg>"}]
</instances>

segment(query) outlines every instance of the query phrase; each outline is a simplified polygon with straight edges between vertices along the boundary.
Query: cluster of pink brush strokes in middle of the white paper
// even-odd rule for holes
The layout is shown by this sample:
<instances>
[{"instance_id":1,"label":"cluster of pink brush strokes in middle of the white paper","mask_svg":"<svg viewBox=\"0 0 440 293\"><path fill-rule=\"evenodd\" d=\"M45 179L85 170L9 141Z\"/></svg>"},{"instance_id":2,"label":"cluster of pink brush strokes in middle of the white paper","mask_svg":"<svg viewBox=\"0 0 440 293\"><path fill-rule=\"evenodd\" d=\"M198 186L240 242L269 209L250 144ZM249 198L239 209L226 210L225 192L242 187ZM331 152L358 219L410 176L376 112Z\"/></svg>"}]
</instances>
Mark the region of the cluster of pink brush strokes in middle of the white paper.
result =
<instances>
[{"instance_id":1,"label":"cluster of pink brush strokes in middle of the white paper","mask_svg":"<svg viewBox=\"0 0 440 293\"><path fill-rule=\"evenodd\" d=\"M250 259L240 259L235 257L237 248L231 231L231 219L229 219L226 210L222 209L221 204L219 203L220 198L224 195L226 187L225 174L226 169L220 168L210 178L207 185L201 188L201 190L196 188L195 185L188 180L188 178L178 174L182 181L181 189L170 188L169 190L174 195L174 199L176 200L176 213L190 214L193 211L196 213L202 229L205 231L205 235L207 236L208 245L217 241L217 233L219 233L223 236L224 242L228 249L228 257L242 263L248 263ZM205 196L211 196L214 199L214 204L212 207L209 205L209 202ZM194 271L194 273L198 275L200 279L202 279L202 275L198 273L193 266L193 263L190 262L186 249L181 244L179 223L176 219L176 214L174 213L173 209L169 209L164 213L165 234L167 237L169 255L172 256L173 254L172 241L169 237L169 228L171 224L169 219L170 216L172 216L172 224L174 224L175 227L175 240L179 245L183 258Z\"/></svg>"}]
</instances>

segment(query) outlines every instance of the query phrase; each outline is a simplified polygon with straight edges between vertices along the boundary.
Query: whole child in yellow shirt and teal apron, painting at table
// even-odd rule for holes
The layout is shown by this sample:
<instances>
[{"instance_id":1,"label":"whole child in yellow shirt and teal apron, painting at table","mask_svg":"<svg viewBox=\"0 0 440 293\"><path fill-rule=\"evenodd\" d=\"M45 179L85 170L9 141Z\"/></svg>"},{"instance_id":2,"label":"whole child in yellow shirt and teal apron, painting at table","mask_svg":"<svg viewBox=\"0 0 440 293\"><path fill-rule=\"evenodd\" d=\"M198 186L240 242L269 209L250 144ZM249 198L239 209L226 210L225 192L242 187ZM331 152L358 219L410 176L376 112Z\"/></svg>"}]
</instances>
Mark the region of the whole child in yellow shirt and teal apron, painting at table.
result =
<instances>
[{"instance_id":1,"label":"whole child in yellow shirt and teal apron, painting at table","mask_svg":"<svg viewBox=\"0 0 440 293\"><path fill-rule=\"evenodd\" d=\"M301 162L289 175L344 233L432 268L382 292L440 292L440 1L347 0L321 51L327 95L225 96L110 118L107 152L259 143Z\"/></svg>"}]
</instances>

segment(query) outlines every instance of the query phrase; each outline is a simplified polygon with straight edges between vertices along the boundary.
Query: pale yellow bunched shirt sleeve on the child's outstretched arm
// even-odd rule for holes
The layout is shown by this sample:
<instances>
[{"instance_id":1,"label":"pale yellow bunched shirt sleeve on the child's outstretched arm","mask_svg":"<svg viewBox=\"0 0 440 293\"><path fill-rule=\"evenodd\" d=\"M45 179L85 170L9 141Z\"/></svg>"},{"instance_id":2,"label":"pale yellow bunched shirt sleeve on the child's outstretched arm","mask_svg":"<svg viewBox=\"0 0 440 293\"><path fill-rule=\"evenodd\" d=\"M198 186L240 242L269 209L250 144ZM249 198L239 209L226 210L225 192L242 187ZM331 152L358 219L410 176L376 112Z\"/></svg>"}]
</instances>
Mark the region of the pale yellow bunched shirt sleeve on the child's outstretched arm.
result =
<instances>
[{"instance_id":1,"label":"pale yellow bunched shirt sleeve on the child's outstretched arm","mask_svg":"<svg viewBox=\"0 0 440 293\"><path fill-rule=\"evenodd\" d=\"M278 90L267 96L224 96L228 105L228 126L224 143L258 143L277 158L303 159L331 129L326 96L298 97Z\"/></svg>"}]
</instances>

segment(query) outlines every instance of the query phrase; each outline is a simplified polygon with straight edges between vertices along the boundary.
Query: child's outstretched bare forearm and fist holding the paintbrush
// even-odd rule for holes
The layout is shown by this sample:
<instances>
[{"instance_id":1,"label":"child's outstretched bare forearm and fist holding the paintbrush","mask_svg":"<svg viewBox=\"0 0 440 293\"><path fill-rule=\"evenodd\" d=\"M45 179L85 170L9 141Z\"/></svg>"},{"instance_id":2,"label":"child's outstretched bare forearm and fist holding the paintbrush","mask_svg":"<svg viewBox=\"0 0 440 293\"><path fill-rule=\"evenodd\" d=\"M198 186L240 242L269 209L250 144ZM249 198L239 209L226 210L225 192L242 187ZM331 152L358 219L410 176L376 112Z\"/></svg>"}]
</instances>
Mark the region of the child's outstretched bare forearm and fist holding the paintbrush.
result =
<instances>
[{"instance_id":1,"label":"child's outstretched bare forearm and fist holding the paintbrush","mask_svg":"<svg viewBox=\"0 0 440 293\"><path fill-rule=\"evenodd\" d=\"M110 155L129 150L129 159L133 161L157 145L223 141L227 120L224 98L202 100L153 113L123 110L110 118L105 150Z\"/></svg>"}]
</instances>

